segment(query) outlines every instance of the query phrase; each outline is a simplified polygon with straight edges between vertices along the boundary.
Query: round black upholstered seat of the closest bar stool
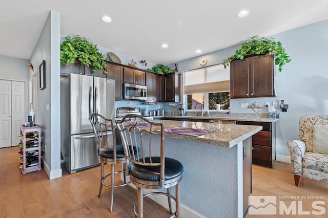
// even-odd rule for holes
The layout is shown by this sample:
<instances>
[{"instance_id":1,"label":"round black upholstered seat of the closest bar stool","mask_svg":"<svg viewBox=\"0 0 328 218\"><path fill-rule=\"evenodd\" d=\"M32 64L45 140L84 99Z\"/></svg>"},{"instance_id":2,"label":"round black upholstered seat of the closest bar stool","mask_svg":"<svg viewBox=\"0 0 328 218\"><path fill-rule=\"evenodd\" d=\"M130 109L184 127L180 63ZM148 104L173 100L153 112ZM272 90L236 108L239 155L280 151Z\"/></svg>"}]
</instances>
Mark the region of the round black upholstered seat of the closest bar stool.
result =
<instances>
[{"instance_id":1,"label":"round black upholstered seat of the closest bar stool","mask_svg":"<svg viewBox=\"0 0 328 218\"><path fill-rule=\"evenodd\" d=\"M149 158L145 158L149 163ZM153 163L160 163L160 157L152 157ZM165 158L165 180L171 180L179 177L183 173L183 165L172 158ZM131 164L130 175L144 181L159 181L160 166L142 166Z\"/></svg>"}]
</instances>

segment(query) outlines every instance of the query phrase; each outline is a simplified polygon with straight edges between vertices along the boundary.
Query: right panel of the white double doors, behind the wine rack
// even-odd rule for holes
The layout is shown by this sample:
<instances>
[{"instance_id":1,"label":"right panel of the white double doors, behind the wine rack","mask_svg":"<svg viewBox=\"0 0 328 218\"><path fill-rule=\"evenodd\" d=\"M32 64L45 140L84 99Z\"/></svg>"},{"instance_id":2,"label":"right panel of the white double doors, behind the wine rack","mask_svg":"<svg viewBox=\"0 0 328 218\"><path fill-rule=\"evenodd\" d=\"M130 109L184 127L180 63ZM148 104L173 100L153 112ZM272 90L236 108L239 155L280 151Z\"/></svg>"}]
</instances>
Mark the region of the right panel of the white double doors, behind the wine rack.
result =
<instances>
[{"instance_id":1,"label":"right panel of the white double doors, behind the wine rack","mask_svg":"<svg viewBox=\"0 0 328 218\"><path fill-rule=\"evenodd\" d=\"M20 125L25 122L25 82L11 82L11 145L19 143Z\"/></svg>"}]
</instances>

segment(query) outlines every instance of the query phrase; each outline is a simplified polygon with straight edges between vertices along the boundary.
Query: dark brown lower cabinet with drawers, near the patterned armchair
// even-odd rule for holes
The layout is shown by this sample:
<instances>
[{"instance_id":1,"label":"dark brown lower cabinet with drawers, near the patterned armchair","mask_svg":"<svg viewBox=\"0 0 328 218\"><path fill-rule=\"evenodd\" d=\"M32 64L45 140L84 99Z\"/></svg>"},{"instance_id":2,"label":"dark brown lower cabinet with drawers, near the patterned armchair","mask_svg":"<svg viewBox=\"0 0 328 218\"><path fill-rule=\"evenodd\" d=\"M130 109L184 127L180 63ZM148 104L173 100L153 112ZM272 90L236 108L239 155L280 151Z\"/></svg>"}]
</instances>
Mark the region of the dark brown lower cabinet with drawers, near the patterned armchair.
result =
<instances>
[{"instance_id":1,"label":"dark brown lower cabinet with drawers, near the patterned armchair","mask_svg":"<svg viewBox=\"0 0 328 218\"><path fill-rule=\"evenodd\" d=\"M252 137L253 164L272 168L276 159L275 123L237 121L237 124L262 126L262 130Z\"/></svg>"}]
</instances>

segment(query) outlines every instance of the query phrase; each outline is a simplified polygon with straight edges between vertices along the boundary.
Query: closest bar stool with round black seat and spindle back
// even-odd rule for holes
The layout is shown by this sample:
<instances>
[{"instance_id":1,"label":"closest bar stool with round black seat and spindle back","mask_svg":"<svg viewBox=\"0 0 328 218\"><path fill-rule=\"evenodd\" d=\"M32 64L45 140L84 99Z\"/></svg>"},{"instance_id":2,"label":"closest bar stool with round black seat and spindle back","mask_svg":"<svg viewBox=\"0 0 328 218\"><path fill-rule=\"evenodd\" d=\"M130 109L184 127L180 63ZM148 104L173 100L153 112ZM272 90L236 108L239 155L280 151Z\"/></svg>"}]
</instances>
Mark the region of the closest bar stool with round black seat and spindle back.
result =
<instances>
[{"instance_id":1,"label":"closest bar stool with round black seat and spindle back","mask_svg":"<svg viewBox=\"0 0 328 218\"><path fill-rule=\"evenodd\" d=\"M127 121L127 122L126 122ZM122 144L126 149L126 158L130 165L130 181L137 188L137 201L134 213L144 217L144 198L153 194L168 197L170 217L180 217L180 181L183 165L172 158L165 157L163 124L150 121L139 115L128 114L121 121L116 121ZM159 151L156 148L159 146ZM137 149L136 152L130 152ZM136 153L136 154L135 154ZM170 194L170 187L175 186L175 197ZM167 189L165 192L143 194L144 189ZM176 211L172 213L171 199L175 201Z\"/></svg>"}]
</instances>

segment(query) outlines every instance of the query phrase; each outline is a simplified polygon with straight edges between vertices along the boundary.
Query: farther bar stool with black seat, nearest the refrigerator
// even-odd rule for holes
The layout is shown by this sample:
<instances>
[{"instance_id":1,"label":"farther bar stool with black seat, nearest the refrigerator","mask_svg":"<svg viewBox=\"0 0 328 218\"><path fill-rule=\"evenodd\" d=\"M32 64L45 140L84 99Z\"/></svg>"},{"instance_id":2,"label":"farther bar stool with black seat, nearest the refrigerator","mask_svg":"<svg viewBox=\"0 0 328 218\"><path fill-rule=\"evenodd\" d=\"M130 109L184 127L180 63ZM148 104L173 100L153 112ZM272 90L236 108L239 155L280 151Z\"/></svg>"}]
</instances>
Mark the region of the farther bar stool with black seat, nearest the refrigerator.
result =
<instances>
[{"instance_id":1,"label":"farther bar stool with black seat, nearest the refrigerator","mask_svg":"<svg viewBox=\"0 0 328 218\"><path fill-rule=\"evenodd\" d=\"M89 118L95 134L95 141L97 144L97 153L100 162L100 188L98 198L100 198L103 185L111 188L111 205L110 211L113 210L114 203L114 189L117 187L127 186L130 182L127 182L126 177L129 169L127 167L124 148L121 144L116 143L115 129L113 121L105 118L100 114L94 113ZM120 141L120 138L119 140ZM105 164L111 165L111 172L105 175ZM115 164L122 164L123 170L115 171ZM115 174L123 173L124 183L115 185ZM107 177L111 177L111 184L105 182Z\"/></svg>"}]
</instances>

